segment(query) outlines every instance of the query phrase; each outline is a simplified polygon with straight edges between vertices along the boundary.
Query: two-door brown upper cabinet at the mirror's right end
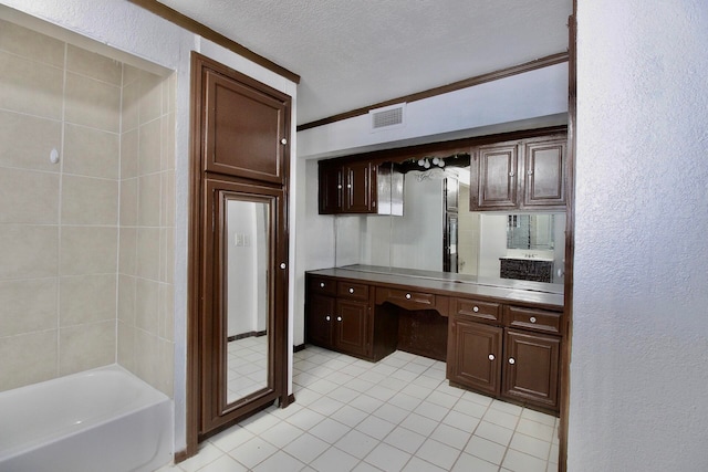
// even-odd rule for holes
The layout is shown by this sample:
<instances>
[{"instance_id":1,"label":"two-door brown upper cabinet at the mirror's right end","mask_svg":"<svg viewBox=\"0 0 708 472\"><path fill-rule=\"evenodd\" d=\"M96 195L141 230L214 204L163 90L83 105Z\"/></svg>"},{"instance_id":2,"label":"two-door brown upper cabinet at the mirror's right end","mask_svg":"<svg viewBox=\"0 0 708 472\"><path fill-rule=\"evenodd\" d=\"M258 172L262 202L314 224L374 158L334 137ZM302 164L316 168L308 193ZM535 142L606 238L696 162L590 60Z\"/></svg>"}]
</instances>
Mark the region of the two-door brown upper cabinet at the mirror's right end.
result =
<instances>
[{"instance_id":1,"label":"two-door brown upper cabinet at the mirror's right end","mask_svg":"<svg viewBox=\"0 0 708 472\"><path fill-rule=\"evenodd\" d=\"M566 136L472 148L470 210L565 208Z\"/></svg>"}]
</instances>

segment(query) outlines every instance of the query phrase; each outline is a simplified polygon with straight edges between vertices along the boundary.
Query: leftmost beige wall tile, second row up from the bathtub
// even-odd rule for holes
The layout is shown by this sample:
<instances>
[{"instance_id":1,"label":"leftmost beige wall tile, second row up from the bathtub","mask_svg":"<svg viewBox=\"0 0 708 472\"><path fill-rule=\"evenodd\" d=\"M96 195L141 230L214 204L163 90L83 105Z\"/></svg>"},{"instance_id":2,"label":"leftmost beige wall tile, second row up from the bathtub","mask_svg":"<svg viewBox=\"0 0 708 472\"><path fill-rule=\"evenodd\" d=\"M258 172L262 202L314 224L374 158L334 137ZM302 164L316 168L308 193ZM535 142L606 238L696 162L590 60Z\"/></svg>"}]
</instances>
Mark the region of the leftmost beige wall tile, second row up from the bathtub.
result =
<instances>
[{"instance_id":1,"label":"leftmost beige wall tile, second row up from the bathtub","mask_svg":"<svg viewBox=\"0 0 708 472\"><path fill-rule=\"evenodd\" d=\"M0 282L0 336L56 327L56 277Z\"/></svg>"}]
</instances>

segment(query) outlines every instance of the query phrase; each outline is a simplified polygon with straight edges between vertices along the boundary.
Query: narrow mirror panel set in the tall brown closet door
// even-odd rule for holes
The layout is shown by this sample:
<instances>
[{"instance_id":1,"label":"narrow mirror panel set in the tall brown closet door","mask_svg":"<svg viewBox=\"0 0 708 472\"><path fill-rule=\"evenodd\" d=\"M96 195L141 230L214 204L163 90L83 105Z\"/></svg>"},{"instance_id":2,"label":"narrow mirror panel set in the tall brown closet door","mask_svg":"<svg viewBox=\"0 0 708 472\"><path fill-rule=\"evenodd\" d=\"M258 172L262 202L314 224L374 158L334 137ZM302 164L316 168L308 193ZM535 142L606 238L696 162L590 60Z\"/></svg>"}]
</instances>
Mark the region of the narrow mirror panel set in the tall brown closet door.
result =
<instances>
[{"instance_id":1,"label":"narrow mirror panel set in the tall brown closet door","mask_svg":"<svg viewBox=\"0 0 708 472\"><path fill-rule=\"evenodd\" d=\"M268 242L266 202L227 201L227 403L268 387Z\"/></svg>"}]
</instances>

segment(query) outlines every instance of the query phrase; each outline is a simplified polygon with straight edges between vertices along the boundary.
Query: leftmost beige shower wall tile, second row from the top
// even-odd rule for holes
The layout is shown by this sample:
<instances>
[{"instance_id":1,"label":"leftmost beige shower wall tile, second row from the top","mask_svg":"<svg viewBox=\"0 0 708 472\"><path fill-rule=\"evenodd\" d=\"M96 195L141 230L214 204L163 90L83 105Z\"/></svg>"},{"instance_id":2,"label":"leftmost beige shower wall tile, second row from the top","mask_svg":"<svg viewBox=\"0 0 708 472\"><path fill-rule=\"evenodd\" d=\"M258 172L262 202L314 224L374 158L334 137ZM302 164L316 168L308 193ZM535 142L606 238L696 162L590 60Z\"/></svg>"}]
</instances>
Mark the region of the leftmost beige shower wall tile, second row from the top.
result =
<instances>
[{"instance_id":1,"label":"leftmost beige shower wall tile, second row from the top","mask_svg":"<svg viewBox=\"0 0 708 472\"><path fill-rule=\"evenodd\" d=\"M61 118L61 69L0 52L0 108Z\"/></svg>"}]
</instances>

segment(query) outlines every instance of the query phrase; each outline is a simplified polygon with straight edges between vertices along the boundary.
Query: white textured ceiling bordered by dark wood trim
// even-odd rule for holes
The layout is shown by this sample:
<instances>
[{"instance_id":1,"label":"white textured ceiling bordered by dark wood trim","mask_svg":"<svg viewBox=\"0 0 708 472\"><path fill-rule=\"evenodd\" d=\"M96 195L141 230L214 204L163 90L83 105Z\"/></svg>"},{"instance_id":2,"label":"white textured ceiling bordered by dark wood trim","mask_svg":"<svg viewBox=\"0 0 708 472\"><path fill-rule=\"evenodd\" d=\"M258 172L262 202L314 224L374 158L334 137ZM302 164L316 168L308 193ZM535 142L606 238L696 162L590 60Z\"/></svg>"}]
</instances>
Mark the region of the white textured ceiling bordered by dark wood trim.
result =
<instances>
[{"instance_id":1,"label":"white textured ceiling bordered by dark wood trim","mask_svg":"<svg viewBox=\"0 0 708 472\"><path fill-rule=\"evenodd\" d=\"M159 0L301 76L299 125L568 50L572 0Z\"/></svg>"}]
</instances>

